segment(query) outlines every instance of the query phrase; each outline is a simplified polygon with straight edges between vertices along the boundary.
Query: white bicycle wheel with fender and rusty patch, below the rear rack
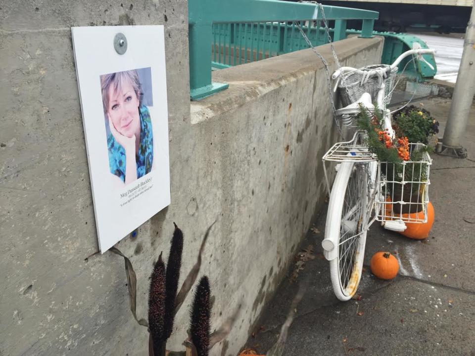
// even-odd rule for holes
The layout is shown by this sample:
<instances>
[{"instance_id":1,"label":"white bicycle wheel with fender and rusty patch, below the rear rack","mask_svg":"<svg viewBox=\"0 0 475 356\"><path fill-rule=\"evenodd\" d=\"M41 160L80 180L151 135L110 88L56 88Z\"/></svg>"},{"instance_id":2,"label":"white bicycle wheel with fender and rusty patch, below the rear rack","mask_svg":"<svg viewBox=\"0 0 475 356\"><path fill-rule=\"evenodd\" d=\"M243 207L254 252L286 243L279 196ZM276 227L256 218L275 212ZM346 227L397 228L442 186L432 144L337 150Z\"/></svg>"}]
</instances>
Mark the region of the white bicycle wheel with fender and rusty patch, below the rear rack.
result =
<instances>
[{"instance_id":1,"label":"white bicycle wheel with fender and rusty patch, below the rear rack","mask_svg":"<svg viewBox=\"0 0 475 356\"><path fill-rule=\"evenodd\" d=\"M341 163L330 197L325 238L336 241L336 258L330 261L333 291L349 300L361 279L368 230L368 165Z\"/></svg>"}]
</instances>

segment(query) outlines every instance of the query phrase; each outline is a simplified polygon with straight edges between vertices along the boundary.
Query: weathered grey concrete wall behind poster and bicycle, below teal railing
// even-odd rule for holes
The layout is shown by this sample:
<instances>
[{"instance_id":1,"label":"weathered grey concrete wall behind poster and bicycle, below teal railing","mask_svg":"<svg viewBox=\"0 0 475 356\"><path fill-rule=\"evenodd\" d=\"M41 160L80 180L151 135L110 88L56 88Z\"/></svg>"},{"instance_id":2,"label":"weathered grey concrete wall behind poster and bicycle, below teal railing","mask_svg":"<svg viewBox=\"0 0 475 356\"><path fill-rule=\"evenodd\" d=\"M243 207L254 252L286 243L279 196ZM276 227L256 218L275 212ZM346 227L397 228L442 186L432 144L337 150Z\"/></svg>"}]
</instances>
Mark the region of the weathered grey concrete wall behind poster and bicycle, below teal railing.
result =
<instances>
[{"instance_id":1,"label":"weathered grey concrete wall behind poster and bicycle, below teal railing","mask_svg":"<svg viewBox=\"0 0 475 356\"><path fill-rule=\"evenodd\" d=\"M201 274L216 296L213 328L243 305L213 350L236 355L323 202L320 158L337 135L318 58L306 50L216 72L230 89L193 103L190 115L185 0L1 0L0 18L0 355L146 355L122 258L95 254L70 26L103 24L165 25L172 204L117 245L137 273L138 315L173 222L186 238L183 279L217 219ZM360 66L378 61L382 40L335 48Z\"/></svg>"}]
</instances>

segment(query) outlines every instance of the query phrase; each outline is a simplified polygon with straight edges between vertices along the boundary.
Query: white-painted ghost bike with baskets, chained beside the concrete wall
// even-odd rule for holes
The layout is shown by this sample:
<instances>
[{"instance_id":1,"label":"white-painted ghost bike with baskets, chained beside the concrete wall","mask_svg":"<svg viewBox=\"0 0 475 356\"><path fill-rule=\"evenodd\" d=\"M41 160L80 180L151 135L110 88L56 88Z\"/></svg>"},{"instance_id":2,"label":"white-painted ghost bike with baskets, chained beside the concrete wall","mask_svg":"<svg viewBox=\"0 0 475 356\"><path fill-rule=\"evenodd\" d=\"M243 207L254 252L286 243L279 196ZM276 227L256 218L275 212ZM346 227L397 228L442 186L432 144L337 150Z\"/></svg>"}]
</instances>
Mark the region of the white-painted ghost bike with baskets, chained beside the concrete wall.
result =
<instances>
[{"instance_id":1,"label":"white-painted ghost bike with baskets, chained beside the concrete wall","mask_svg":"<svg viewBox=\"0 0 475 356\"><path fill-rule=\"evenodd\" d=\"M391 114L386 109L394 87L397 66L408 57L417 56L419 61L425 62L423 54L433 54L431 49L423 49L416 44L413 49L401 54L391 65L371 65L360 69L341 67L332 75L336 80L335 90L339 89L341 100L345 107L338 109L336 115L341 126L354 127L356 116L361 107L369 112L382 110L383 128L394 137L391 126ZM389 164L379 162L375 155L369 152L365 144L365 132L356 132L351 140L338 142L323 157L325 178L330 194L330 201L325 226L325 239L322 241L325 258L330 261L332 286L336 297L341 301L349 300L356 292L361 279L364 260L366 234L368 228L375 220L390 230L403 231L405 222L427 222L428 202L428 172L427 178L419 181L388 180L387 170L394 170ZM419 144L411 144L419 145ZM415 147L414 149L417 149ZM422 162L423 161L423 162ZM414 165L430 165L428 154L418 162L402 163L405 170L413 169ZM335 167L336 177L330 192L329 178L326 164L337 162ZM408 220L406 216L396 214L387 209L387 197L391 188L401 184L404 189L410 189L414 184L424 184L426 187L421 196L409 199L400 199L390 204L421 204L424 214L417 219ZM419 195L419 193L417 194ZM373 214L374 211L374 214Z\"/></svg>"}]
</instances>

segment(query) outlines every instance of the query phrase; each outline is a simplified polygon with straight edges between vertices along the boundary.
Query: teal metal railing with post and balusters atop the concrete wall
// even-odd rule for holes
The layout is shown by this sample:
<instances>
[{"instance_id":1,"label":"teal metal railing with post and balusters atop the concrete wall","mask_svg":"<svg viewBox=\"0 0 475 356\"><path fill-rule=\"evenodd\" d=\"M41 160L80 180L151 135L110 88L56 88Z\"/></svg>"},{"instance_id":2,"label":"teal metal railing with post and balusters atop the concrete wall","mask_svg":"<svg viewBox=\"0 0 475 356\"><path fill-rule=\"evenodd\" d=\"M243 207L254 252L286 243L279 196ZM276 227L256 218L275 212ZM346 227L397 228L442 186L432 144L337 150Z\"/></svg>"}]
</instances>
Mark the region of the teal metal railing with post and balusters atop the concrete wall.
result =
<instances>
[{"instance_id":1,"label":"teal metal railing with post and balusters atop the concrete wall","mask_svg":"<svg viewBox=\"0 0 475 356\"><path fill-rule=\"evenodd\" d=\"M334 21L334 41L346 37L346 21L361 20L361 37L373 37L378 12L324 5L327 20ZM288 25L309 21L304 31L312 32L312 23L323 20L319 5L277 0L189 0L190 97L201 99L228 88L211 82L211 64L218 68L246 63L285 53L303 46L298 29ZM214 30L214 31L213 31ZM310 37L309 37L310 38ZM321 38L320 41L326 41ZM323 44L322 43L322 44Z\"/></svg>"}]
</instances>

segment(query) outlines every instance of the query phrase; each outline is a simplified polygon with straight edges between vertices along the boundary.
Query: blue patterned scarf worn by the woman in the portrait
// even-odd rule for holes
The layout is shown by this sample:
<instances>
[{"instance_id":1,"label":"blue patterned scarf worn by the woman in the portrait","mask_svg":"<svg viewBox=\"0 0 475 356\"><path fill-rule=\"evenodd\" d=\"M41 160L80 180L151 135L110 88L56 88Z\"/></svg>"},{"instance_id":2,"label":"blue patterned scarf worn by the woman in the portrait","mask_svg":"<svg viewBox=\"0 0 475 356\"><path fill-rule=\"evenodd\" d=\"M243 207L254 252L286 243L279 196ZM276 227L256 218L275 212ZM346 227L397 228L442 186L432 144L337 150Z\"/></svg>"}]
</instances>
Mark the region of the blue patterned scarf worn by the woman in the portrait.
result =
<instances>
[{"instance_id":1,"label":"blue patterned scarf worn by the woman in the portrait","mask_svg":"<svg viewBox=\"0 0 475 356\"><path fill-rule=\"evenodd\" d=\"M153 161L153 133L150 114L145 105L139 107L140 114L140 147L136 154L137 178L150 172ZM115 140L112 134L107 137L109 150L110 173L121 178L125 183L125 149Z\"/></svg>"}]
</instances>

